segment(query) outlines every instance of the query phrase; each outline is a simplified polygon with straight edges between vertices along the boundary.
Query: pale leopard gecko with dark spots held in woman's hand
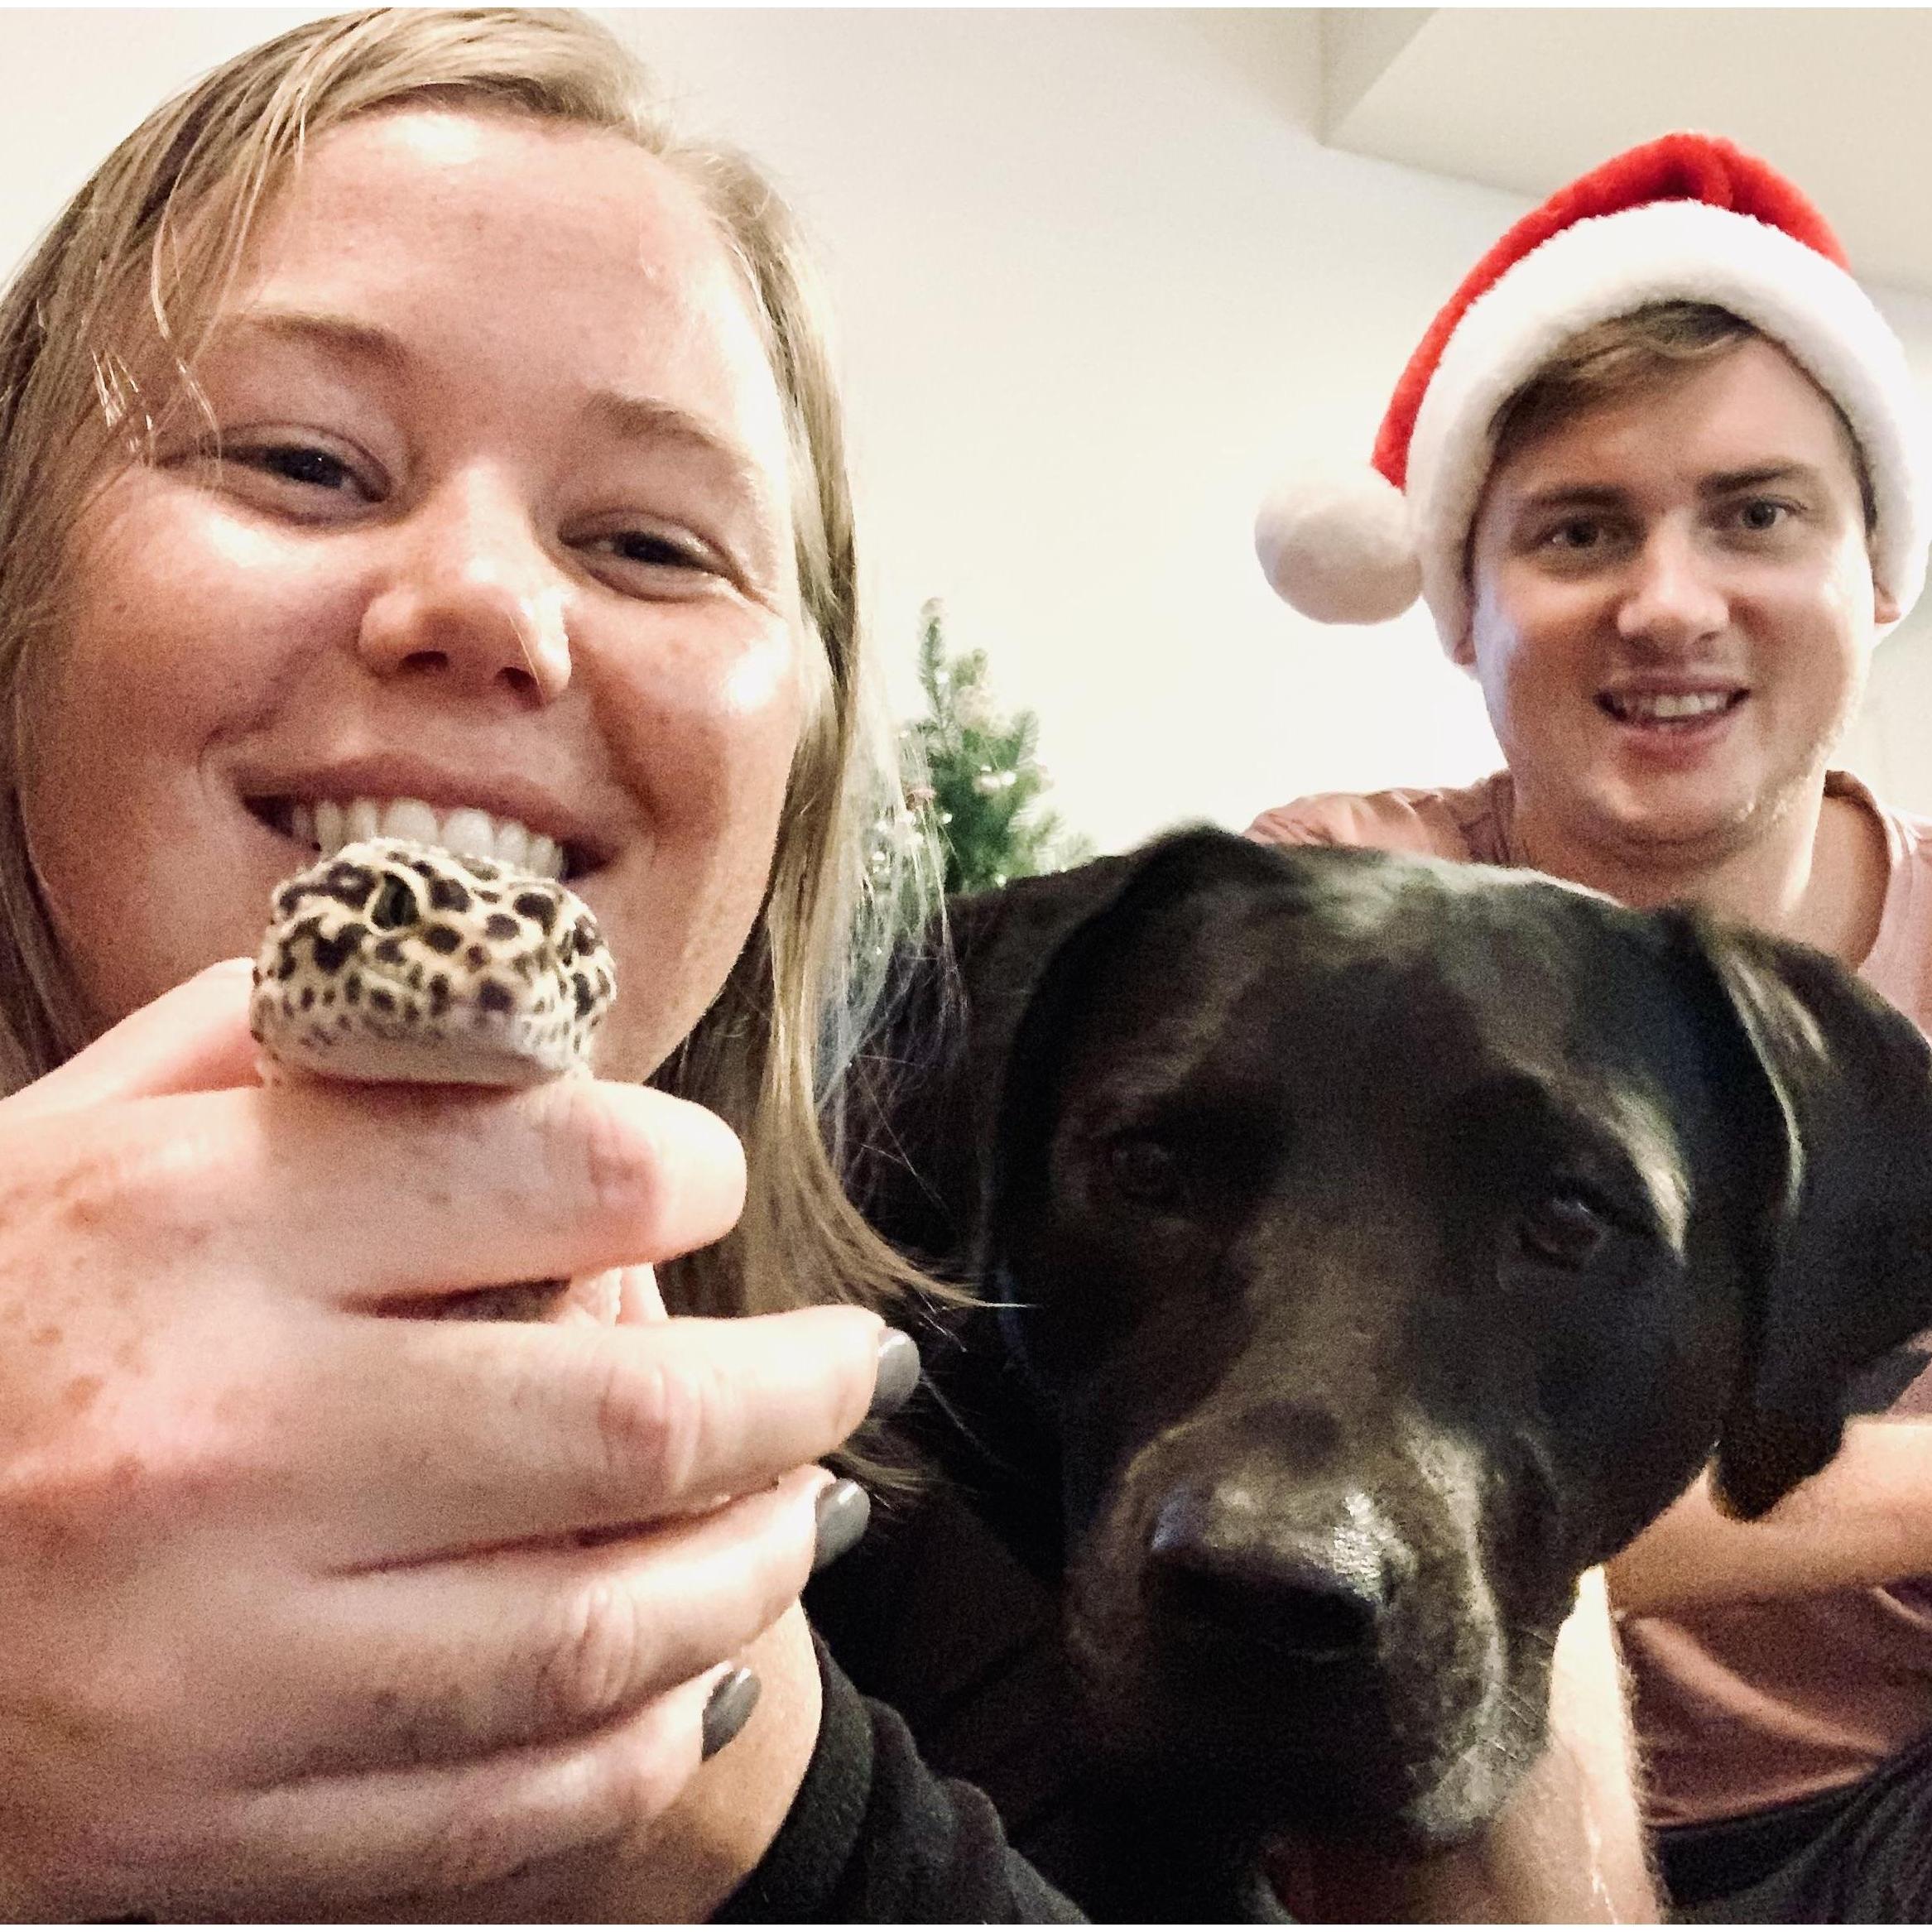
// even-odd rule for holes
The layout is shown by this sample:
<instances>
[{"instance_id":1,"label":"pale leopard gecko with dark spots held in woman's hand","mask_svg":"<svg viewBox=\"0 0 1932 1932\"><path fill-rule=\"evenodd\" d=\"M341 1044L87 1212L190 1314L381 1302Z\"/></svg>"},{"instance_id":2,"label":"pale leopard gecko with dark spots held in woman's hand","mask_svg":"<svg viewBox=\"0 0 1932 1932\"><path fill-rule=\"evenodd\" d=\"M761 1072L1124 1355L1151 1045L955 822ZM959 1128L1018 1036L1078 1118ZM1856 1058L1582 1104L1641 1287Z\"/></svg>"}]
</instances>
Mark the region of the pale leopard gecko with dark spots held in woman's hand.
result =
<instances>
[{"instance_id":1,"label":"pale leopard gecko with dark spots held in woman's hand","mask_svg":"<svg viewBox=\"0 0 1932 1932\"><path fill-rule=\"evenodd\" d=\"M568 887L406 838L363 838L276 887L249 1032L267 1080L535 1086L587 1074L616 997L611 951ZM541 1320L537 1281L412 1304Z\"/></svg>"}]
</instances>

